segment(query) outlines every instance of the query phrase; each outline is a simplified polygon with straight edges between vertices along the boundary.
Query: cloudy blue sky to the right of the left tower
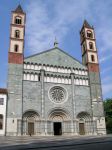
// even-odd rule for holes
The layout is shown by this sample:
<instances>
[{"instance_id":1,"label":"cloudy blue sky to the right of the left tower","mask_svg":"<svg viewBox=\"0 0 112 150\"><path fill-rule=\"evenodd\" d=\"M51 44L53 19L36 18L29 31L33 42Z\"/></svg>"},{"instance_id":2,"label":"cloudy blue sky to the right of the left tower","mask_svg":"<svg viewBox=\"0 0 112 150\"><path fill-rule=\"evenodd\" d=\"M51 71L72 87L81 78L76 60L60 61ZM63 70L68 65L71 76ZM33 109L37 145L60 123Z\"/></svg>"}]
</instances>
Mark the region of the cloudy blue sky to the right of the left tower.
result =
<instances>
[{"instance_id":1,"label":"cloudy blue sky to the right of the left tower","mask_svg":"<svg viewBox=\"0 0 112 150\"><path fill-rule=\"evenodd\" d=\"M55 36L63 44L70 28L74 27L75 31L76 25L80 25L83 19L88 19L95 26L100 62L106 63L112 57L111 6L111 0L30 1L26 5L26 43L29 53L53 47ZM106 69L102 67L102 74L110 70L108 65ZM103 84L104 95L109 92L112 92L111 83Z\"/></svg>"}]
</instances>

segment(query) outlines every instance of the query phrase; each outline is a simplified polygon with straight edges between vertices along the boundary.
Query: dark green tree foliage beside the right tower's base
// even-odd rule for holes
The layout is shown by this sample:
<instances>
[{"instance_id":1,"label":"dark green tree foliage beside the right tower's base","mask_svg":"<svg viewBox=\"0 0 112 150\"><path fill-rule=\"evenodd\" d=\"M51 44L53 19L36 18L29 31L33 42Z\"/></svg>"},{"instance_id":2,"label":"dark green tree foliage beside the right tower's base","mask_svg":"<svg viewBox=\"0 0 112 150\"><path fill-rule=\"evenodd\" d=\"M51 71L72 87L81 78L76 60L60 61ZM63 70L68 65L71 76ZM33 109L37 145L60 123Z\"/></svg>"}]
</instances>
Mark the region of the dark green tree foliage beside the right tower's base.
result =
<instances>
[{"instance_id":1,"label":"dark green tree foliage beside the right tower's base","mask_svg":"<svg viewBox=\"0 0 112 150\"><path fill-rule=\"evenodd\" d=\"M107 133L112 133L112 98L104 101Z\"/></svg>"}]
</instances>

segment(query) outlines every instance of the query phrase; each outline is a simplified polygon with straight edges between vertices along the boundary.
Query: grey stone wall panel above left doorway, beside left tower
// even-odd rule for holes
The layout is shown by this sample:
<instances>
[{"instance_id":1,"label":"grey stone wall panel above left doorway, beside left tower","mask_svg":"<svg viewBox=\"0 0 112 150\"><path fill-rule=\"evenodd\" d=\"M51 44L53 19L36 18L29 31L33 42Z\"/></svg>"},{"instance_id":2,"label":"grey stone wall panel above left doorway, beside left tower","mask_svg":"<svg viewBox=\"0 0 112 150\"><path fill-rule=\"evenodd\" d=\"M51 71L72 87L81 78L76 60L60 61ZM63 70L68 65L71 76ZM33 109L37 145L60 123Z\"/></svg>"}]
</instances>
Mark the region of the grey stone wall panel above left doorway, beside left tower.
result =
<instances>
[{"instance_id":1,"label":"grey stone wall panel above left doorway, beside left tower","mask_svg":"<svg viewBox=\"0 0 112 150\"><path fill-rule=\"evenodd\" d=\"M41 82L23 81L23 113L28 110L41 115Z\"/></svg>"}]
</instances>

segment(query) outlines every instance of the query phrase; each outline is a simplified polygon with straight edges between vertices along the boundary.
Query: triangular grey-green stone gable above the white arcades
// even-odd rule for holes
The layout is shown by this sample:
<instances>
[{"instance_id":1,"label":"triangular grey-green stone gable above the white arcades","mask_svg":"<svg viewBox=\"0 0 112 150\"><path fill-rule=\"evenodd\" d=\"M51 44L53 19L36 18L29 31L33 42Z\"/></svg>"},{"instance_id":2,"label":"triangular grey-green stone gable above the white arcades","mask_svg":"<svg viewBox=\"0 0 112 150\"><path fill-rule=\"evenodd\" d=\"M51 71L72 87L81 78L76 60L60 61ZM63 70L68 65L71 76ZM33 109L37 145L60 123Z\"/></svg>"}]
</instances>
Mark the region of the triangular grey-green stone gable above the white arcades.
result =
<instances>
[{"instance_id":1,"label":"triangular grey-green stone gable above the white arcades","mask_svg":"<svg viewBox=\"0 0 112 150\"><path fill-rule=\"evenodd\" d=\"M86 67L82 65L78 60L68 55L66 52L59 48L53 48L24 59L25 62L49 64L53 66L74 67L82 68Z\"/></svg>"}]
</instances>

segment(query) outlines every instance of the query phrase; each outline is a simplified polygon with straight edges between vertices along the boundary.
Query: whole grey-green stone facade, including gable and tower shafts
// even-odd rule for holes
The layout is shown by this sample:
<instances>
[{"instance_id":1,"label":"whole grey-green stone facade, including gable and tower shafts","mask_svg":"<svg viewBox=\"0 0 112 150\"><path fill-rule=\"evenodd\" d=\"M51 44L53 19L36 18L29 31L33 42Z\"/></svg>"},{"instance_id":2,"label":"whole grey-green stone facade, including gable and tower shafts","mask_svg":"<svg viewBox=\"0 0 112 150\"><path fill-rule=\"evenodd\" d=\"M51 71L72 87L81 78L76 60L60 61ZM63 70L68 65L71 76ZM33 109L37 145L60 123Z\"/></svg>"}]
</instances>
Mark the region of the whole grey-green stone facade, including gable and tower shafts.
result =
<instances>
[{"instance_id":1,"label":"whole grey-green stone facade, including gable and tower shafts","mask_svg":"<svg viewBox=\"0 0 112 150\"><path fill-rule=\"evenodd\" d=\"M50 55L49 55L50 54ZM86 67L83 66L80 62L76 61L63 51L59 49L49 50L45 53L41 53L41 55L35 55L33 57L29 57L25 59L26 62L35 62L40 64L49 64L49 65L59 65L59 66L67 66L74 68L82 68L86 70ZM39 81L28 81L23 79L24 71L26 72L36 72L39 75ZM74 73L67 73L66 75L71 78L72 83L64 84L64 83L52 83L52 82L44 82L44 75L47 74L56 74L56 75L64 75L59 72L49 72L42 70L34 70L34 69L23 69L23 65L17 64L9 64L8 70L8 106L7 106L7 118L16 118L14 124L15 134L19 132L22 127L22 116L25 112L35 111L37 112L39 119L36 120L39 124L39 134L41 132L52 132L53 134L53 122L49 120L49 115L53 110L60 109L65 110L69 115L69 122L67 123L64 120L63 130L70 129L70 132L77 132L78 120L76 120L77 115L81 112L87 112L90 114L90 118L92 115L95 117L103 116L103 105L102 102L92 103L93 99L97 99L98 97L102 98L101 93L101 83L99 73L89 73L90 85L75 85L74 77L84 77L88 78L88 75L76 75ZM49 91L52 87L59 86L65 89L67 93L66 101L62 103L55 103L50 99ZM14 114L12 113L14 112ZM48 124L46 124L46 120L49 120ZM18 122L19 121L19 122ZM24 120L26 121L26 120ZM39 122L40 121L40 122ZM8 120L11 125L12 120ZM77 122L77 126L76 126ZM36 124L39 126L39 124ZM23 123L24 124L24 123ZM92 123L89 123L92 124ZM48 127L47 126L51 126ZM23 132L27 134L27 122L23 127ZM69 126L69 128L68 128ZM91 126L91 125L90 125ZM8 127L9 128L9 127ZM66 129L67 128L67 129ZM13 132L13 129L8 129L9 132ZM19 130L19 131L18 131ZM37 131L36 131L37 132ZM69 132L69 133L70 133Z\"/></svg>"}]
</instances>

